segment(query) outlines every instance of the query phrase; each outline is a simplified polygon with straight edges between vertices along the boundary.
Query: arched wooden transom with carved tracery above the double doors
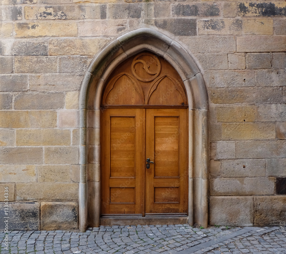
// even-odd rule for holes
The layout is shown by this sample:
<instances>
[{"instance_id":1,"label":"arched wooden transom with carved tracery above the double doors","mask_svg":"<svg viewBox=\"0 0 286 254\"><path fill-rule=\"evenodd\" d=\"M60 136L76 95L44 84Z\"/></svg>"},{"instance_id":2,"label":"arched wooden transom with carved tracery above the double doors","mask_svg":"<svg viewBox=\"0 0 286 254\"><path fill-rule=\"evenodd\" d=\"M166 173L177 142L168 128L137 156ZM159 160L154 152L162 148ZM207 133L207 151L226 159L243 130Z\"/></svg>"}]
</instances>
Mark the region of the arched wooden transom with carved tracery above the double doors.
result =
<instances>
[{"instance_id":1,"label":"arched wooden transom with carved tracery above the double doors","mask_svg":"<svg viewBox=\"0 0 286 254\"><path fill-rule=\"evenodd\" d=\"M107 81L102 105L187 105L182 79L162 57L143 52L118 66Z\"/></svg>"}]
</instances>

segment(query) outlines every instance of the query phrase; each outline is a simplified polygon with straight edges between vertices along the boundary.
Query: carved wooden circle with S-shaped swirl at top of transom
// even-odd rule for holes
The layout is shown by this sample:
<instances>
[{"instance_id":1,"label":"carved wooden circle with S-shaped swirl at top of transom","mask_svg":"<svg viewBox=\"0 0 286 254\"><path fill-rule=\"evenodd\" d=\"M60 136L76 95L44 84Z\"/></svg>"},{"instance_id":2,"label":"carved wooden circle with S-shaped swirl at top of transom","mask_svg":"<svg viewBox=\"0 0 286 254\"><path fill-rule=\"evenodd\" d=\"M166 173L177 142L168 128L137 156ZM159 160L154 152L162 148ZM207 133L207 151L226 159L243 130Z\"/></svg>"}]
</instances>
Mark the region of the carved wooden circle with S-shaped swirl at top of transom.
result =
<instances>
[{"instance_id":1,"label":"carved wooden circle with S-shaped swirl at top of transom","mask_svg":"<svg viewBox=\"0 0 286 254\"><path fill-rule=\"evenodd\" d=\"M152 57L152 59L154 59L154 62L156 62L156 65L157 65L157 68L156 68L155 71L150 71L149 70L150 66L146 63L146 61L138 59L138 58L140 58L140 57L142 57L144 55L148 55L148 56ZM143 69L146 71L146 73L148 73L149 75L152 75L152 77L145 79L143 77L138 76L138 74L135 71L135 65L137 63L142 63L143 64ZM136 55L136 57L134 57L134 59L132 61L132 64L131 64L131 71L132 71L134 77L136 77L138 80L143 81L143 82L149 82L149 81L152 81L152 80L156 79L156 77L158 77L158 75L160 74L161 63L160 63L158 57L156 57L153 54L150 54L150 53L147 53L147 52L146 53L140 53L139 55Z\"/></svg>"}]
</instances>

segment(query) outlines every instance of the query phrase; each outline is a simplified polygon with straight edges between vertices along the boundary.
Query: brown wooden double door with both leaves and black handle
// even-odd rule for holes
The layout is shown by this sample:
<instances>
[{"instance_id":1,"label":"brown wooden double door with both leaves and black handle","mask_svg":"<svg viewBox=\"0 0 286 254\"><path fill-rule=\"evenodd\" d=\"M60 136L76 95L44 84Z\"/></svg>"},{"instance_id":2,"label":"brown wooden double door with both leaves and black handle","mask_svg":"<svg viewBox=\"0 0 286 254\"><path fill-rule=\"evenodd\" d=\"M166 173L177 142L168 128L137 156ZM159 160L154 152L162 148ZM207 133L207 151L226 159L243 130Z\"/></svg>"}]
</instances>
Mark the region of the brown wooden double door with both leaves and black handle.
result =
<instances>
[{"instance_id":1,"label":"brown wooden double door with both leaves and black handle","mask_svg":"<svg viewBox=\"0 0 286 254\"><path fill-rule=\"evenodd\" d=\"M180 106L102 109L102 216L187 212L187 113Z\"/></svg>"}]
</instances>

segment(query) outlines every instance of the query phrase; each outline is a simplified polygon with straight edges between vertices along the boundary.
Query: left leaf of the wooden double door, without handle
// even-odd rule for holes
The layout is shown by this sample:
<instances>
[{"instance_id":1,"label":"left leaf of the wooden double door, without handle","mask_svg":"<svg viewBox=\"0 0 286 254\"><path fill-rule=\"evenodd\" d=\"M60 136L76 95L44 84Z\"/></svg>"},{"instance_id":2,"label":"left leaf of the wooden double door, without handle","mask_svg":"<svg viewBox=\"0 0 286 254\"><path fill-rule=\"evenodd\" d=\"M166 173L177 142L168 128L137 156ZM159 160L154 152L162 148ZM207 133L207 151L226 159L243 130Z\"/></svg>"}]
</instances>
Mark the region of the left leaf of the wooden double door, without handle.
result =
<instances>
[{"instance_id":1,"label":"left leaf of the wooden double door, without handle","mask_svg":"<svg viewBox=\"0 0 286 254\"><path fill-rule=\"evenodd\" d=\"M141 215L145 109L105 108L101 119L101 214Z\"/></svg>"}]
</instances>

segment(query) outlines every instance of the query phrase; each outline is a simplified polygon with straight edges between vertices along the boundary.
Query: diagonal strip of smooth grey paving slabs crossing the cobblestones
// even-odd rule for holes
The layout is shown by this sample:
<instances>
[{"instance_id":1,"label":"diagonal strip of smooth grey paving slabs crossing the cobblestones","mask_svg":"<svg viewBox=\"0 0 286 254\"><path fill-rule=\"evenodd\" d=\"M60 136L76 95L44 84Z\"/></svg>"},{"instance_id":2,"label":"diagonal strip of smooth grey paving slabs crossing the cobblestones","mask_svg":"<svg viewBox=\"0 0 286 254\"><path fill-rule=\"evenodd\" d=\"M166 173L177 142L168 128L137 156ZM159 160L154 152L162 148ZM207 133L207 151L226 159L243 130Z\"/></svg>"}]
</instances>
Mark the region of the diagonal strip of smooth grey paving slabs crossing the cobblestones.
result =
<instances>
[{"instance_id":1,"label":"diagonal strip of smooth grey paving slabs crossing the cobblestones","mask_svg":"<svg viewBox=\"0 0 286 254\"><path fill-rule=\"evenodd\" d=\"M178 254L191 254L191 253L195 253L196 251L201 251L200 253L212 251L221 246L219 245L219 243L228 244L238 239L241 239L243 237L248 237L250 235L264 235L276 229L279 229L279 227L271 227L268 229L261 228L261 227L244 227L237 231L231 232L227 235L220 236L217 239L213 239L213 240L210 240L204 243L199 243L188 249L178 251Z\"/></svg>"}]
</instances>

